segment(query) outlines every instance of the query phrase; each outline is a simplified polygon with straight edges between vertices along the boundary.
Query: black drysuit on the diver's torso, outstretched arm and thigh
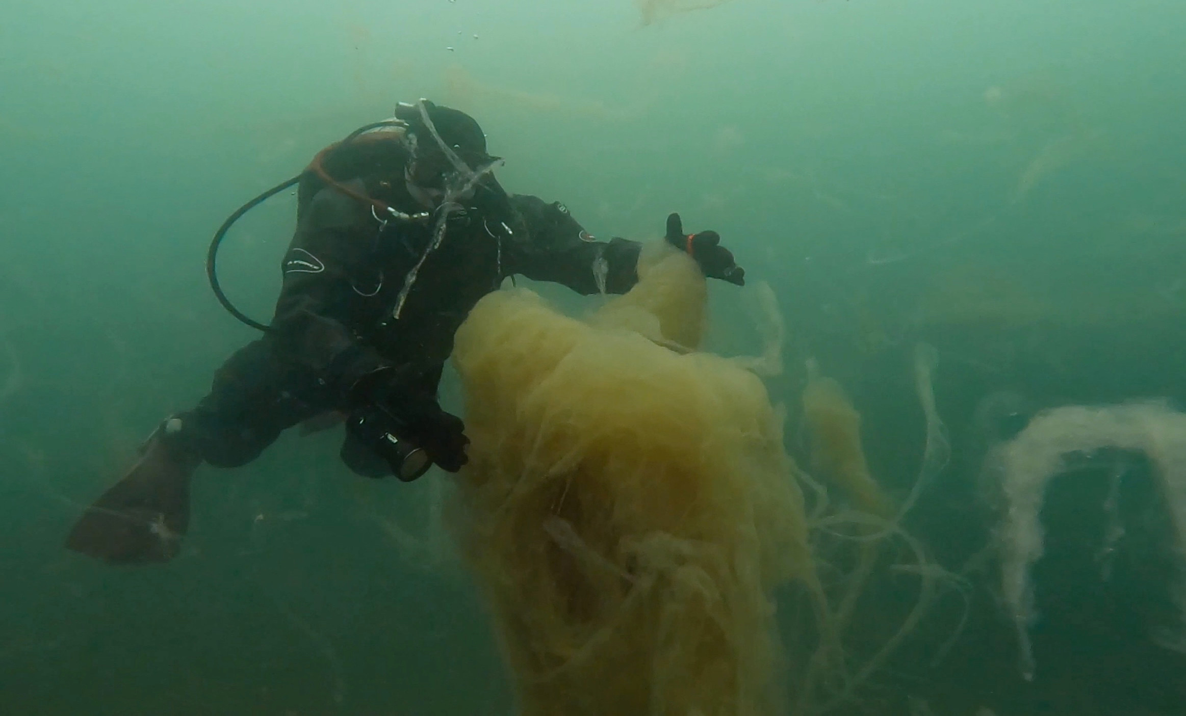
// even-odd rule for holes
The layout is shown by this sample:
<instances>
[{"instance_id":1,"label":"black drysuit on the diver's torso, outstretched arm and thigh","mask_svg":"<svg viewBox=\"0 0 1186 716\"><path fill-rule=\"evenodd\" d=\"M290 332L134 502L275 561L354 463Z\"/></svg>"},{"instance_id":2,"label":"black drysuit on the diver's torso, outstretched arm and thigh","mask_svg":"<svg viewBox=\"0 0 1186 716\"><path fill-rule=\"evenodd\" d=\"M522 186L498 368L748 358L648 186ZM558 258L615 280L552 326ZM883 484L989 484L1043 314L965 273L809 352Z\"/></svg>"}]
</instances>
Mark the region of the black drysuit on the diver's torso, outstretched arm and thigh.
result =
<instances>
[{"instance_id":1,"label":"black drysuit on the diver's torso, outstretched arm and thigh","mask_svg":"<svg viewBox=\"0 0 1186 716\"><path fill-rule=\"evenodd\" d=\"M377 171L336 179L402 211L420 211L403 186L402 149L384 145L374 151L385 156L366 165ZM170 436L215 466L249 462L282 430L344 409L350 386L385 366L435 395L458 326L508 276L554 281L581 294L599 290L598 273L608 293L637 282L638 243L593 241L562 204L510 196L496 207L466 206L451 216L395 318L433 222L384 224L370 204L308 173L306 179L281 264L273 331L231 356L210 395L178 416L183 428Z\"/></svg>"}]
</instances>

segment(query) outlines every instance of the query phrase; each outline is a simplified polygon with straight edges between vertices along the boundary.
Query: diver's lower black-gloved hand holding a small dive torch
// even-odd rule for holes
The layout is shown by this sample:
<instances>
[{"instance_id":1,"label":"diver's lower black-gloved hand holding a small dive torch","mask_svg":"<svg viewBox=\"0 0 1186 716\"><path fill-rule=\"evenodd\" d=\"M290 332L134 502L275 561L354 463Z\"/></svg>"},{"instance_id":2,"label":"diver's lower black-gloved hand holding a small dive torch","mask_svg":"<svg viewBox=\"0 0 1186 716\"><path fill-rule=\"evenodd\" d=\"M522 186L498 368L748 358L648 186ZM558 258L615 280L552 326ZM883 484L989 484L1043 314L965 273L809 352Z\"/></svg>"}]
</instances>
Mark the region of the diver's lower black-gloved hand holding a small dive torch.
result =
<instances>
[{"instance_id":1,"label":"diver's lower black-gloved hand holding a small dive torch","mask_svg":"<svg viewBox=\"0 0 1186 716\"><path fill-rule=\"evenodd\" d=\"M467 461L465 423L416 383L394 369L368 376L351 391L353 407L346 421L351 436L387 460L402 480L425 473L425 456L447 472L458 472Z\"/></svg>"}]
</instances>

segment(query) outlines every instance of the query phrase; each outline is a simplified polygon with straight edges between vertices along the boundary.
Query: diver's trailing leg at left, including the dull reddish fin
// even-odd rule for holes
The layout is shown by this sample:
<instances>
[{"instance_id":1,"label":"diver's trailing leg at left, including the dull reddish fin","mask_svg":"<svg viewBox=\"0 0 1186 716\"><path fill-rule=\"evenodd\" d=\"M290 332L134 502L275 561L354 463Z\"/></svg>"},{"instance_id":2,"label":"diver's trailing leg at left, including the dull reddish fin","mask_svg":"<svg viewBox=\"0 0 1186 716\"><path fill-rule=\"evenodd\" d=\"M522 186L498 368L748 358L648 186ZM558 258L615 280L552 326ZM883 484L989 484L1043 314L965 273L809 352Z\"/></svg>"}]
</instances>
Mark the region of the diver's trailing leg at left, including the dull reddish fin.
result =
<instances>
[{"instance_id":1,"label":"diver's trailing leg at left, including the dull reddish fin","mask_svg":"<svg viewBox=\"0 0 1186 716\"><path fill-rule=\"evenodd\" d=\"M237 467L285 428L320 413L327 395L280 360L267 338L237 351L215 373L210 395L165 420L127 475L87 509L66 546L119 564L165 562L190 520L190 477L202 462Z\"/></svg>"}]
</instances>

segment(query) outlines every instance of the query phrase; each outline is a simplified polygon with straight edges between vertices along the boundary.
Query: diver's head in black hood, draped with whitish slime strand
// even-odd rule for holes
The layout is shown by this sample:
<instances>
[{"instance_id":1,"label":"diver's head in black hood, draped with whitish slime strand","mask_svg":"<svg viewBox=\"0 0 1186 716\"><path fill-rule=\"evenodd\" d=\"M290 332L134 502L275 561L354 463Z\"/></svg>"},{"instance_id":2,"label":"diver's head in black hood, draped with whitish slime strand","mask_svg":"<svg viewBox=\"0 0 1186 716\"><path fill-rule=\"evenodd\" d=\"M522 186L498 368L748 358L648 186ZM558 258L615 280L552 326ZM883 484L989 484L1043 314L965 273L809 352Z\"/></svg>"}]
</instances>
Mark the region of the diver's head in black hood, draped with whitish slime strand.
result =
<instances>
[{"instance_id":1,"label":"diver's head in black hood, draped with whitish slime strand","mask_svg":"<svg viewBox=\"0 0 1186 716\"><path fill-rule=\"evenodd\" d=\"M404 178L421 202L439 203L449 188L464 185L497 156L486 153L486 135L464 111L421 100L401 103L395 116L408 124L412 156Z\"/></svg>"}]
</instances>

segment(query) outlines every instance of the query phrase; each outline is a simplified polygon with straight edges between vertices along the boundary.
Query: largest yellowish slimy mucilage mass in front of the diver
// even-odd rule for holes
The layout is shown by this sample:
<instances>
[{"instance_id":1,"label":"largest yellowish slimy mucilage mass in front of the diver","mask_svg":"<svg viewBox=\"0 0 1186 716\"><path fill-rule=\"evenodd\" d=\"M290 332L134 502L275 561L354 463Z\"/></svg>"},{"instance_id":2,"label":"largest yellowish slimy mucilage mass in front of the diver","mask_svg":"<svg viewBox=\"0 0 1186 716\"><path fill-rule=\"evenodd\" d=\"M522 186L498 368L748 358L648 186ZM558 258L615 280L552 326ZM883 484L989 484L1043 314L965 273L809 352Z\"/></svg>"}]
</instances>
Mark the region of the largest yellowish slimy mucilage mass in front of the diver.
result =
<instances>
[{"instance_id":1,"label":"largest yellowish slimy mucilage mass in front of the diver","mask_svg":"<svg viewBox=\"0 0 1186 716\"><path fill-rule=\"evenodd\" d=\"M508 290L458 332L457 529L524 715L782 711L808 520L761 381L696 351L706 295L661 251L591 320Z\"/></svg>"}]
</instances>

